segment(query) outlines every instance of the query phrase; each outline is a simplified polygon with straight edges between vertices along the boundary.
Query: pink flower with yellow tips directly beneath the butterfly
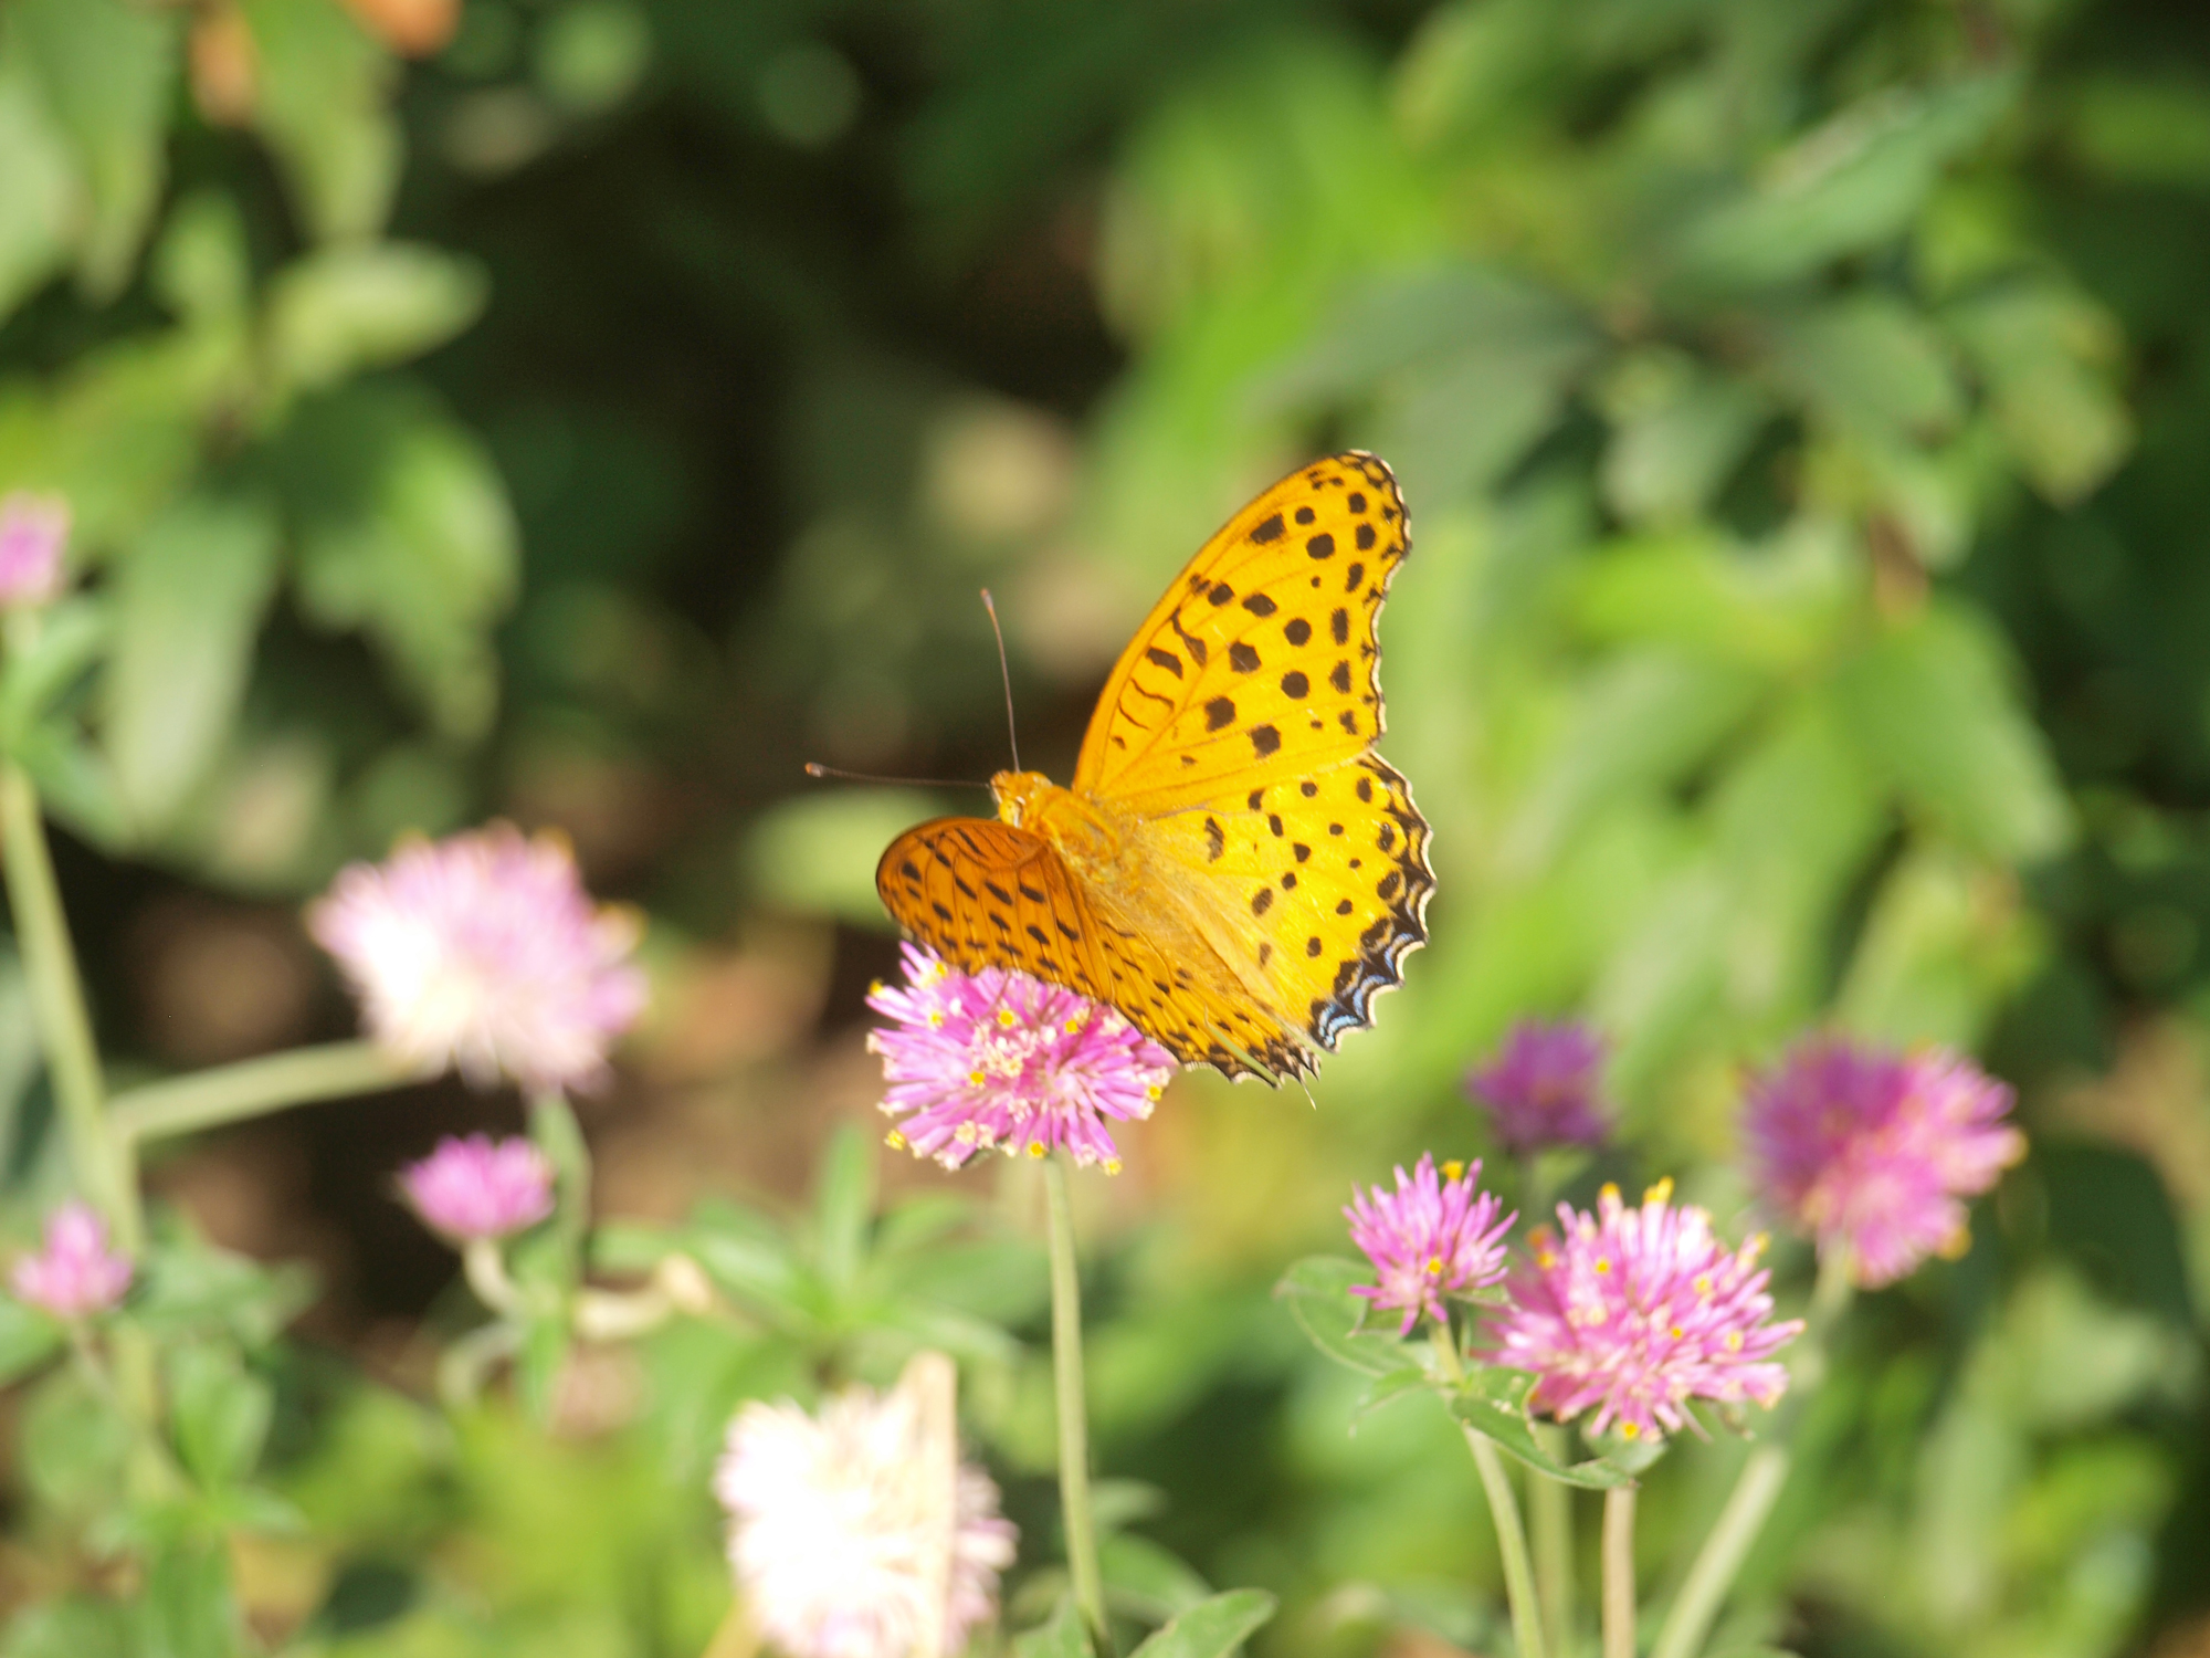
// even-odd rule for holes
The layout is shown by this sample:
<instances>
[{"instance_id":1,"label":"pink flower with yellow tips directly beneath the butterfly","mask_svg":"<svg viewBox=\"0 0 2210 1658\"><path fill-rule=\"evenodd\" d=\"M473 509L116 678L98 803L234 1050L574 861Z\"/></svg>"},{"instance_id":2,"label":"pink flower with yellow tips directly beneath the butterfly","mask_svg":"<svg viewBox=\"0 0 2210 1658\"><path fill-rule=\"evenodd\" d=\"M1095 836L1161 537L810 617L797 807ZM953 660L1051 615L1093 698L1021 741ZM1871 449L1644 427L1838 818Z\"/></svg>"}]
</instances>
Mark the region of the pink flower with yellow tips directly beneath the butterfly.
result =
<instances>
[{"instance_id":1,"label":"pink flower with yellow tips directly beneath the butterfly","mask_svg":"<svg viewBox=\"0 0 2210 1658\"><path fill-rule=\"evenodd\" d=\"M1056 984L983 968L959 973L904 946L906 988L877 984L866 1006L895 1024L871 1030L891 1083L891 1145L957 1169L1001 1147L1120 1172L1105 1121L1143 1121L1174 1074L1174 1054L1112 1008Z\"/></svg>"}]
</instances>

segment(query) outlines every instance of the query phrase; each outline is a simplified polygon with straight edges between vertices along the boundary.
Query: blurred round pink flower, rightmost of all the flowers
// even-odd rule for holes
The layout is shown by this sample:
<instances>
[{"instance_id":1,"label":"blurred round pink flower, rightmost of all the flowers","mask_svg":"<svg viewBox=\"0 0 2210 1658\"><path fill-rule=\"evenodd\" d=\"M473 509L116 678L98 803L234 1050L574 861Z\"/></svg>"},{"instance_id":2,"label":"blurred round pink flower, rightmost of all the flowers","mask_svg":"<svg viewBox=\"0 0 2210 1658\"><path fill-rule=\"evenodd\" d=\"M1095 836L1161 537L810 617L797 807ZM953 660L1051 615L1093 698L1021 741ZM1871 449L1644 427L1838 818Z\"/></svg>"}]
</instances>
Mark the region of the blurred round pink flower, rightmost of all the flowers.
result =
<instances>
[{"instance_id":1,"label":"blurred round pink flower, rightmost of all the flowers","mask_svg":"<svg viewBox=\"0 0 2210 1658\"><path fill-rule=\"evenodd\" d=\"M1909 1057L1810 1037L1750 1083L1750 1178L1850 1278L1892 1284L1967 1240L1958 1198L1987 1192L2027 1152L2002 1119L2011 1090L1943 1048Z\"/></svg>"}]
</instances>

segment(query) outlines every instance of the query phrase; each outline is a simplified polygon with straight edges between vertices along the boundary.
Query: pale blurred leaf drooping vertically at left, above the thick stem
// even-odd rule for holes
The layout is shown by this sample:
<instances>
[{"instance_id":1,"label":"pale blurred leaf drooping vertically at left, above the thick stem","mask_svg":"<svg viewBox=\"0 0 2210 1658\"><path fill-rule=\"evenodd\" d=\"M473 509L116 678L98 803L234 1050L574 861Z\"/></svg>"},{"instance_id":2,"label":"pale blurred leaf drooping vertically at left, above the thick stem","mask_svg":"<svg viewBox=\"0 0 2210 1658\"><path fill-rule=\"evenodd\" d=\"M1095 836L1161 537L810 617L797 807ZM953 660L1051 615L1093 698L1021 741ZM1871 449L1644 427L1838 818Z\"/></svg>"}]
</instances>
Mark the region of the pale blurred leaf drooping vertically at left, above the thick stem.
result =
<instances>
[{"instance_id":1,"label":"pale blurred leaf drooping vertically at left, above the thick stem","mask_svg":"<svg viewBox=\"0 0 2210 1658\"><path fill-rule=\"evenodd\" d=\"M243 497L177 504L115 573L106 749L139 829L168 827L214 763L274 592L276 515Z\"/></svg>"}]
</instances>

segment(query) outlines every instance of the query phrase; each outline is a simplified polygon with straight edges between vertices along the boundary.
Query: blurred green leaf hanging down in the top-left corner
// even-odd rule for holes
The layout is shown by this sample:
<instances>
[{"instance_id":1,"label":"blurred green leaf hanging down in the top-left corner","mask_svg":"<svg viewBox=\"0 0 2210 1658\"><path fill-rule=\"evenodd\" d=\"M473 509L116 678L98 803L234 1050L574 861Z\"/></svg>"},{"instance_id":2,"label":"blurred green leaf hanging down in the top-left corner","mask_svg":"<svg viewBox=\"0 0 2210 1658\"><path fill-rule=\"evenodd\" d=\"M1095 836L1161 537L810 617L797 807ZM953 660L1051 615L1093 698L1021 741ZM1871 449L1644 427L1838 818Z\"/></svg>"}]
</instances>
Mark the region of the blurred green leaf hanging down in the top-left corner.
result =
<instances>
[{"instance_id":1,"label":"blurred green leaf hanging down in the top-left corner","mask_svg":"<svg viewBox=\"0 0 2210 1658\"><path fill-rule=\"evenodd\" d=\"M91 208L77 270L106 303L130 279L161 192L181 20L124 0L15 0L11 24L77 153ZM9 153L9 188L13 168Z\"/></svg>"}]
</instances>

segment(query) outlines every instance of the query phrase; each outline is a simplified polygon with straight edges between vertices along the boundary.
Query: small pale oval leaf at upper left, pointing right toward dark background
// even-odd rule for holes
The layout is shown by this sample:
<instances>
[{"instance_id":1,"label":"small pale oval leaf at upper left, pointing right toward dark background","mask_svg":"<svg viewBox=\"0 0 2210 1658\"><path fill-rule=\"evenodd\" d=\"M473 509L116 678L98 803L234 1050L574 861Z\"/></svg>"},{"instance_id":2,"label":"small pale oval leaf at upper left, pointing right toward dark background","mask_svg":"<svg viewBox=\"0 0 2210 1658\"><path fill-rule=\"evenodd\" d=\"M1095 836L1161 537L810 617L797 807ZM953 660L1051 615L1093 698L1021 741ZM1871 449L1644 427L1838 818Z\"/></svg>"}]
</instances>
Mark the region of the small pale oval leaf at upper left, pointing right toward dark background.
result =
<instances>
[{"instance_id":1,"label":"small pale oval leaf at upper left, pointing right toward dark background","mask_svg":"<svg viewBox=\"0 0 2210 1658\"><path fill-rule=\"evenodd\" d=\"M327 248L270 283L270 363L296 391L407 363L469 327L486 290L475 263L435 248Z\"/></svg>"}]
</instances>

